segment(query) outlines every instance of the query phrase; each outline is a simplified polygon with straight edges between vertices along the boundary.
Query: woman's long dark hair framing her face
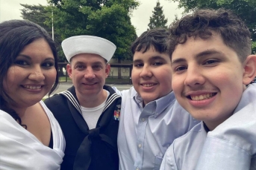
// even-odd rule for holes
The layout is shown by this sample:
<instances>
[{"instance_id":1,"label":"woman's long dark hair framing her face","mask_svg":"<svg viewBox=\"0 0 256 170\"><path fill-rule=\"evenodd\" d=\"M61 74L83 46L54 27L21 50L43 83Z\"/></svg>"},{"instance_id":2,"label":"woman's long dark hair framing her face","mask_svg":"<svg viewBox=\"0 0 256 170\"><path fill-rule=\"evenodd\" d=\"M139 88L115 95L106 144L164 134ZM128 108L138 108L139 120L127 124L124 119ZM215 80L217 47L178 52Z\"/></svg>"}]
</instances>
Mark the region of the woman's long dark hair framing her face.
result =
<instances>
[{"instance_id":1,"label":"woman's long dark hair framing her face","mask_svg":"<svg viewBox=\"0 0 256 170\"><path fill-rule=\"evenodd\" d=\"M57 71L57 49L51 36L43 27L26 20L10 20L0 23L0 109L10 114L20 125L22 125L22 122L19 115L10 108L10 102L13 102L13 99L4 91L3 81L7 76L8 69L13 65L16 57L25 46L36 39L42 38L46 40L51 48L54 56L54 67ZM49 95L57 88L58 84L59 77L56 75Z\"/></svg>"}]
</instances>

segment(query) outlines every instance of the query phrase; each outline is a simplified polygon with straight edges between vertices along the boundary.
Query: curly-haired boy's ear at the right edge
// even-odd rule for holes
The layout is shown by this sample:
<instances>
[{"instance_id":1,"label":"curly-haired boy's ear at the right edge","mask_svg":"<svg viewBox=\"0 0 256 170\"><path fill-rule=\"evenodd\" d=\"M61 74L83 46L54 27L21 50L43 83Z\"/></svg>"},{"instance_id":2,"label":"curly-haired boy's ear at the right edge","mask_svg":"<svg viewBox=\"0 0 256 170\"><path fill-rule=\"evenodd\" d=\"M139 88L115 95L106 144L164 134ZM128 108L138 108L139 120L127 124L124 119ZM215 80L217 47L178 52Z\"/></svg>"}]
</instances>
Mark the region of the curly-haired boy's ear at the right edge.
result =
<instances>
[{"instance_id":1,"label":"curly-haired boy's ear at the right edge","mask_svg":"<svg viewBox=\"0 0 256 170\"><path fill-rule=\"evenodd\" d=\"M256 76L256 55L247 56L246 61L243 63L243 84L249 85Z\"/></svg>"}]
</instances>

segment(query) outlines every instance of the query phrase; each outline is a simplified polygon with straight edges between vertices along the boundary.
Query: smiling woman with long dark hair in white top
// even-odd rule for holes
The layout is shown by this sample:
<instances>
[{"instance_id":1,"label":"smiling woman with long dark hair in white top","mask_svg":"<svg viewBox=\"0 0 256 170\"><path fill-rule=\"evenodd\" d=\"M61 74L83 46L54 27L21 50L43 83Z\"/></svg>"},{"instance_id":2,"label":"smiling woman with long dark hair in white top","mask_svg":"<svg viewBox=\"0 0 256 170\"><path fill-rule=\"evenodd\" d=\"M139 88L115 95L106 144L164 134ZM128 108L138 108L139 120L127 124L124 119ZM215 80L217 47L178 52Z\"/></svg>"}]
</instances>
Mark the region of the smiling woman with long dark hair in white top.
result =
<instances>
[{"instance_id":1,"label":"smiling woman with long dark hair in white top","mask_svg":"<svg viewBox=\"0 0 256 170\"><path fill-rule=\"evenodd\" d=\"M60 169L65 140L41 101L57 88L57 50L25 20L0 23L0 169Z\"/></svg>"}]
</instances>

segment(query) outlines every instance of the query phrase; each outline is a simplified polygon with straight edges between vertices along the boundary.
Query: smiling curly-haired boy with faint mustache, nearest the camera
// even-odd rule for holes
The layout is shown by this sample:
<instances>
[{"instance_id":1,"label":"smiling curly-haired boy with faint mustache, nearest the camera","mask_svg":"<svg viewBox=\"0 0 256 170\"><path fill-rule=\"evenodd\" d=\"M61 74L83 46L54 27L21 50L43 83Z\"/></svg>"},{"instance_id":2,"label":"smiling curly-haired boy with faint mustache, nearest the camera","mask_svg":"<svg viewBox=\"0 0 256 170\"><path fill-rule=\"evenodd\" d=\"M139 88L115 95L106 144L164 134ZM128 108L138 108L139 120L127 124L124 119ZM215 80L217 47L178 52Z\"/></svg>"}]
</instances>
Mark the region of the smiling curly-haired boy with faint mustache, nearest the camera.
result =
<instances>
[{"instance_id":1,"label":"smiling curly-haired boy with faint mustache, nearest the camera","mask_svg":"<svg viewBox=\"0 0 256 170\"><path fill-rule=\"evenodd\" d=\"M256 85L249 85L256 56L249 29L219 9L197 10L170 30L175 97L202 122L172 143L161 169L256 169Z\"/></svg>"}]
</instances>

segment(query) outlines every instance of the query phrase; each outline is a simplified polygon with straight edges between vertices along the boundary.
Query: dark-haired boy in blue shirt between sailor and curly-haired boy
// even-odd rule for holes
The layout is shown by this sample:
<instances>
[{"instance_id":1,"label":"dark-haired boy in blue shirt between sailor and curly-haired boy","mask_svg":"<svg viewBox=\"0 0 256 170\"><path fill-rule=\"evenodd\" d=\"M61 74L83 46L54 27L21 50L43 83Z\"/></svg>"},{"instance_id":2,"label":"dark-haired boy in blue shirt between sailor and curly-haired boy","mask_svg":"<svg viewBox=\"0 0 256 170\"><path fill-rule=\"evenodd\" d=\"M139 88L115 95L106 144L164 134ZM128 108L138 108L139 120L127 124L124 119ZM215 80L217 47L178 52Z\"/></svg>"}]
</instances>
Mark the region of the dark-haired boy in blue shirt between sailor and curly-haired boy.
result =
<instances>
[{"instance_id":1,"label":"dark-haired boy in blue shirt between sailor and curly-haired boy","mask_svg":"<svg viewBox=\"0 0 256 170\"><path fill-rule=\"evenodd\" d=\"M172 92L168 36L163 28L148 30L131 45L134 87L119 91L120 170L160 169L172 141L199 123L181 108Z\"/></svg>"}]
</instances>

